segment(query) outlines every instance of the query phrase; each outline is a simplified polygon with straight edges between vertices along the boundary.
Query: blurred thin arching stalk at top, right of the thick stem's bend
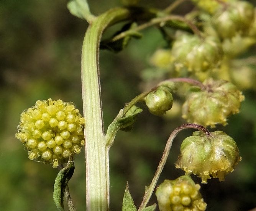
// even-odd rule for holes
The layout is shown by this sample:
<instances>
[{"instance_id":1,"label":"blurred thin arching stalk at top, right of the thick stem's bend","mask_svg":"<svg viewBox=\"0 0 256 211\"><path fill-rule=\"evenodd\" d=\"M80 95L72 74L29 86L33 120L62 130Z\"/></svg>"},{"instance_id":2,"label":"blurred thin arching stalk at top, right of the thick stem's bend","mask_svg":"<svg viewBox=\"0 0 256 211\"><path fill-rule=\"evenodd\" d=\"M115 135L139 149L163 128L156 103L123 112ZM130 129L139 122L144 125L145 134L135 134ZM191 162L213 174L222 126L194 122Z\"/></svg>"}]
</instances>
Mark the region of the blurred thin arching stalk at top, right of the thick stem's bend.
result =
<instances>
[{"instance_id":1,"label":"blurred thin arching stalk at top, right of the thick stem's bend","mask_svg":"<svg viewBox=\"0 0 256 211\"><path fill-rule=\"evenodd\" d=\"M141 24L141 25L139 25L133 29L127 30L125 32L121 32L120 34L116 35L108 42L115 42L119 39L124 38L126 35L131 34L131 32L141 31L141 30L146 29L155 24L163 23L166 21L174 21L174 20L182 21L182 22L186 23L190 27L190 29L194 32L194 34L197 34L197 35L199 35L199 37L202 37L201 31L197 28L197 26L195 26L193 23L191 23L188 19L185 19L184 17L178 16L178 15L168 15L168 16L165 16L162 18L153 18L153 19L151 19L151 21L149 21L147 23Z\"/></svg>"}]
</instances>

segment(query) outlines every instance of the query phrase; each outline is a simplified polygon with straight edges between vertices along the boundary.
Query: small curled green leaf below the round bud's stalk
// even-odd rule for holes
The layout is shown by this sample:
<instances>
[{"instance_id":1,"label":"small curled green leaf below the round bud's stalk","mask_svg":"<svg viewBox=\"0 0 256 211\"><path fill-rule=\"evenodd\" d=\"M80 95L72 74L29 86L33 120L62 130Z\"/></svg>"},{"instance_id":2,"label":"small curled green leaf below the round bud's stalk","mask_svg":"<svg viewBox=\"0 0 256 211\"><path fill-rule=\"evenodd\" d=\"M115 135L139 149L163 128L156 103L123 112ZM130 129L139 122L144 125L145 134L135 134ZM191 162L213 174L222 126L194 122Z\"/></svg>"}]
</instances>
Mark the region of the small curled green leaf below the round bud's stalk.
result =
<instances>
[{"instance_id":1,"label":"small curled green leaf below the round bud's stalk","mask_svg":"<svg viewBox=\"0 0 256 211\"><path fill-rule=\"evenodd\" d=\"M124 131L129 131L132 129L133 124L136 121L137 114L141 113L143 110L138 106L133 105L129 111L126 112L125 116L118 120L120 124L120 129Z\"/></svg>"}]
</instances>

